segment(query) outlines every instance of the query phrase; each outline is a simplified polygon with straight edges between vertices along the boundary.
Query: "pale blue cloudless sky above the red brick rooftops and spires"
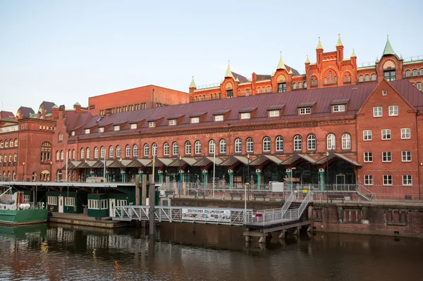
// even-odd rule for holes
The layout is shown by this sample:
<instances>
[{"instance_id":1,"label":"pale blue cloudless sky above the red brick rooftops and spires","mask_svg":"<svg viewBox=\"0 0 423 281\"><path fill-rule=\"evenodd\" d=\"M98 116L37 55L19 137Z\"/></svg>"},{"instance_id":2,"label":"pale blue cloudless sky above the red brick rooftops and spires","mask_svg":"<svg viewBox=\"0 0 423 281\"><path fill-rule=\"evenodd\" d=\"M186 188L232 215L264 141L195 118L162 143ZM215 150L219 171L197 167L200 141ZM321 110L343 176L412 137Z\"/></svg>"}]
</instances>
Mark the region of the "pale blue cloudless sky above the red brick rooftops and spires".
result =
<instances>
[{"instance_id":1,"label":"pale blue cloudless sky above the red brick rooftops and spires","mask_svg":"<svg viewBox=\"0 0 423 281\"><path fill-rule=\"evenodd\" d=\"M0 0L3 110L71 108L88 97L143 85L188 92L231 69L251 78L276 70L279 51L303 73L317 39L357 61L423 54L422 1L20 1Z\"/></svg>"}]
</instances>

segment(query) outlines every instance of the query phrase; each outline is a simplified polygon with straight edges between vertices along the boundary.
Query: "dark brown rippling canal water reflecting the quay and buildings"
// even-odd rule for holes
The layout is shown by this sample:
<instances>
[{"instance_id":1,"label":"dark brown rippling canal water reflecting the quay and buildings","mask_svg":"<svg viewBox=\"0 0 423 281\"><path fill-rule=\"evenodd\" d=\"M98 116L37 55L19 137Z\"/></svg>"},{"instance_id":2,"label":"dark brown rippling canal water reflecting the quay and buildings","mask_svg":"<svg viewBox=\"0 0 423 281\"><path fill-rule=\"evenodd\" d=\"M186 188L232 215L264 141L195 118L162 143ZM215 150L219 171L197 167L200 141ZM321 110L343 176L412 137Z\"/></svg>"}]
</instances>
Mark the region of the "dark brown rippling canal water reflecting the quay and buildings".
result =
<instances>
[{"instance_id":1,"label":"dark brown rippling canal water reflecting the quay and buildings","mask_svg":"<svg viewBox=\"0 0 423 281\"><path fill-rule=\"evenodd\" d=\"M423 240L317 233L264 247L241 227L0 227L0 280L423 280Z\"/></svg>"}]
</instances>

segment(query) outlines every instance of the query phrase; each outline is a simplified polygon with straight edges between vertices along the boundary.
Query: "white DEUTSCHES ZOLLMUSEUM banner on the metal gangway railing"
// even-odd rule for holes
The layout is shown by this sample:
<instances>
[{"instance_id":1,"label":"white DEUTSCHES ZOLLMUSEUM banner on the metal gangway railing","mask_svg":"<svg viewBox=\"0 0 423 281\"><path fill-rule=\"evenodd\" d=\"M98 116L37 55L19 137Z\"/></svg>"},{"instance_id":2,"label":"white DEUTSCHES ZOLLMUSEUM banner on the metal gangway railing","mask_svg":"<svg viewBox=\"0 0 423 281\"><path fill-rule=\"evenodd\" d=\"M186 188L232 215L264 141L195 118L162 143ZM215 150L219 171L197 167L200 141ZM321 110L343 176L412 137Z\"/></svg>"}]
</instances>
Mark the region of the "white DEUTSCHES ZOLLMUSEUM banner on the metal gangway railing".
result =
<instances>
[{"instance_id":1,"label":"white DEUTSCHES ZOLLMUSEUM banner on the metal gangway railing","mask_svg":"<svg viewBox=\"0 0 423 281\"><path fill-rule=\"evenodd\" d=\"M231 210L221 208L182 208L182 219L231 223Z\"/></svg>"}]
</instances>

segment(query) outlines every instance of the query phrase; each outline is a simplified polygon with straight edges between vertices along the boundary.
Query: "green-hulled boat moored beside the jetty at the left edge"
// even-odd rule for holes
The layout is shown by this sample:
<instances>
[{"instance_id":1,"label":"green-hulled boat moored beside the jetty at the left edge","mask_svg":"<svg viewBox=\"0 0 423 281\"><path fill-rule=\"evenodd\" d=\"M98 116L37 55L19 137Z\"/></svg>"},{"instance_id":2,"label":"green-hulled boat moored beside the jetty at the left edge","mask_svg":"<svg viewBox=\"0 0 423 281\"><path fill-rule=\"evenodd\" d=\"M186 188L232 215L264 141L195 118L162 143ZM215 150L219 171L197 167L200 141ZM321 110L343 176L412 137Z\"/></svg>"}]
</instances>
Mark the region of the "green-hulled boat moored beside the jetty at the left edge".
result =
<instances>
[{"instance_id":1,"label":"green-hulled boat moored beside the jetty at the left edge","mask_svg":"<svg viewBox=\"0 0 423 281\"><path fill-rule=\"evenodd\" d=\"M47 222L48 210L23 201L23 192L12 194L9 187L0 194L0 225L27 225Z\"/></svg>"}]
</instances>

